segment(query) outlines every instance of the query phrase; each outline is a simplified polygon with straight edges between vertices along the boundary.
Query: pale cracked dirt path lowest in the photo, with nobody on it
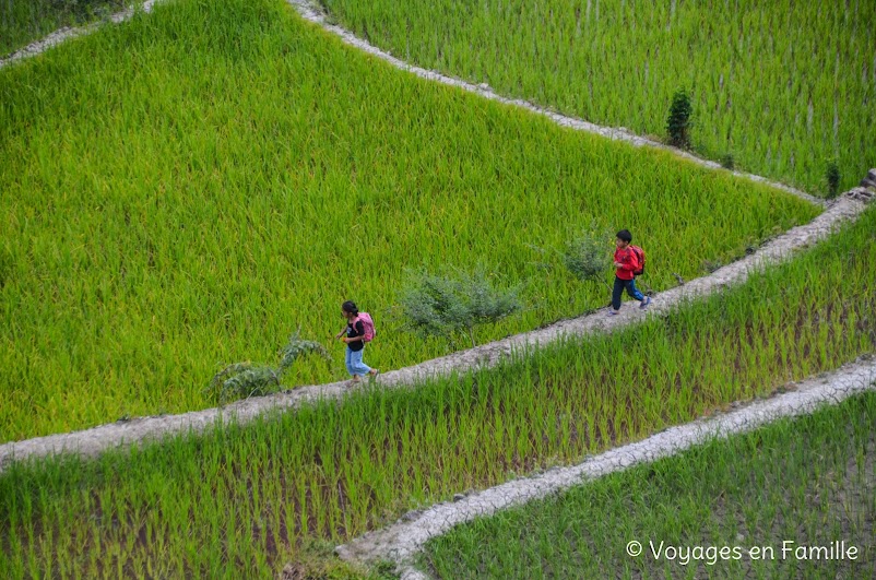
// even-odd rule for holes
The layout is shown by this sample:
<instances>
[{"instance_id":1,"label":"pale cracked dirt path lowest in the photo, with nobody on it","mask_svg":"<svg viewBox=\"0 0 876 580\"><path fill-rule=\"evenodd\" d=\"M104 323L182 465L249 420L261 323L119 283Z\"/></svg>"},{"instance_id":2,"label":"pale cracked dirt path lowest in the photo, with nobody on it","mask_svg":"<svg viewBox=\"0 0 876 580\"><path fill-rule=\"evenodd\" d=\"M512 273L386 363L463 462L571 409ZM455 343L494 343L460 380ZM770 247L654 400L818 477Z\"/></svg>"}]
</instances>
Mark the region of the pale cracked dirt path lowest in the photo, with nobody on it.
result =
<instances>
[{"instance_id":1,"label":"pale cracked dirt path lowest in the photo, with nobody on it","mask_svg":"<svg viewBox=\"0 0 876 580\"><path fill-rule=\"evenodd\" d=\"M876 357L865 356L839 370L808 379L793 391L756 401L731 413L671 427L641 441L606 451L578 465L558 467L533 477L516 480L458 501L411 512L398 523L369 532L335 552L343 559L392 559L402 578L427 578L412 567L412 558L430 538L454 525L498 510L519 506L568 489L583 482L640 463L677 454L713 437L746 433L782 417L809 414L825 404L837 404L864 391L876 391Z\"/></svg>"}]
</instances>

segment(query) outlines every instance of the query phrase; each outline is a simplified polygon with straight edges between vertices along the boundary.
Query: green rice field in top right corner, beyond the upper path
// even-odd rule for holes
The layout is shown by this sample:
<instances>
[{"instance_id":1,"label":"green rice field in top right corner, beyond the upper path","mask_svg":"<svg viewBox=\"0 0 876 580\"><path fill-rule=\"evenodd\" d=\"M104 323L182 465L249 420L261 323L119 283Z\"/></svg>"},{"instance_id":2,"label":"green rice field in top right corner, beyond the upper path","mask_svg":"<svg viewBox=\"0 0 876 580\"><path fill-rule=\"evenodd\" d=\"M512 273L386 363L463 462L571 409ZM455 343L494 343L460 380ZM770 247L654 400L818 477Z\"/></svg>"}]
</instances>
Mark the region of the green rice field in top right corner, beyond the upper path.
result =
<instances>
[{"instance_id":1,"label":"green rice field in top right corner, beyond the upper path","mask_svg":"<svg viewBox=\"0 0 876 580\"><path fill-rule=\"evenodd\" d=\"M589 121L666 138L687 88L694 147L825 194L876 166L876 10L868 0L323 0L425 68Z\"/></svg>"}]
</instances>

